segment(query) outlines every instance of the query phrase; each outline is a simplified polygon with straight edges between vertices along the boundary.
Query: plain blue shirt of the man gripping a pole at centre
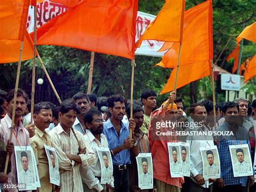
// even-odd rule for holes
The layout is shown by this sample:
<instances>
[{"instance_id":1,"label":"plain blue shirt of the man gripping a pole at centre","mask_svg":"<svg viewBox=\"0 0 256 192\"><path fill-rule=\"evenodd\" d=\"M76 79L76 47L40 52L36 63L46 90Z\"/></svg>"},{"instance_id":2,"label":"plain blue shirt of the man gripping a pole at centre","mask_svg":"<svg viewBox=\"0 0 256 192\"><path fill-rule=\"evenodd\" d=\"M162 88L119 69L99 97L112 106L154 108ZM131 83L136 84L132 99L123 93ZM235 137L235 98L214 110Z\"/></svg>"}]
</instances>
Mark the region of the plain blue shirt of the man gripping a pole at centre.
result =
<instances>
[{"instance_id":1,"label":"plain blue shirt of the man gripping a pole at centre","mask_svg":"<svg viewBox=\"0 0 256 192\"><path fill-rule=\"evenodd\" d=\"M114 129L110 119L104 123L103 132L109 143L110 150L124 144L124 140L129 137L129 124L121 121L121 130L118 137L116 129ZM130 150L123 150L112 157L113 165L125 165L131 163Z\"/></svg>"}]
</instances>

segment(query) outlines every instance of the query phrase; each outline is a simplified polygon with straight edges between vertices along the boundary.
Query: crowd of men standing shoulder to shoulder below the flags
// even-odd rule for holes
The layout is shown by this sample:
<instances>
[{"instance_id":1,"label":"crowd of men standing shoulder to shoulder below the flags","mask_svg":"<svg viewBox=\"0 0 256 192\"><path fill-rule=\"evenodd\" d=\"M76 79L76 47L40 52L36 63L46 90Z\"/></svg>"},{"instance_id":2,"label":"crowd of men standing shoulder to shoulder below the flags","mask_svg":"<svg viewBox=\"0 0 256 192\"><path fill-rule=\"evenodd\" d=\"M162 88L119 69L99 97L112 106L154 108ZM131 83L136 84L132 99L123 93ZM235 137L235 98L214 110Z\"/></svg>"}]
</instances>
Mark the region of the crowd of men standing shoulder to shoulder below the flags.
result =
<instances>
[{"instance_id":1,"label":"crowd of men standing shoulder to shoulder below the flags","mask_svg":"<svg viewBox=\"0 0 256 192\"><path fill-rule=\"evenodd\" d=\"M31 146L41 182L41 187L37 189L39 191L255 191L253 175L234 177L228 146L248 144L254 162L256 100L250 104L245 98L237 98L233 102L217 104L215 125L214 106L211 101L201 100L193 103L189 109L190 114L186 115L183 99L176 98L175 92L170 93L166 102L157 107L156 91L144 90L140 101L133 101L132 117L130 102L122 95L96 97L95 94L77 93L59 105L50 102L35 104L31 122L28 95L22 89L18 89L15 126L12 129L14 95L14 90L10 90L9 93L0 90L0 139L6 146L1 145L0 149L3 154L0 158L0 183L17 184L14 146ZM211 132L217 129L233 131L235 134L216 138L209 134L205 139L198 139L193 135L156 138L156 123L166 121L203 123L203 126L192 127L193 130ZM170 129L175 132L185 128L161 127L160 131ZM9 142L11 132L12 140ZM190 177L171 177L167 143L178 141L190 144L190 165L186 162L187 150L181 147L181 163L186 170L190 168ZM45 145L56 148L59 170L53 170L56 166L54 155L51 154L53 168L49 171ZM206 180L203 177L203 160L199 148L206 145L218 147L219 179ZM107 154L102 153L106 175L104 177L111 177L111 181L106 184L100 184L102 169L96 147L109 147L112 156L113 170L110 170ZM5 174L4 163L7 153L10 154L10 160L8 172ZM147 173L149 162L146 158L138 162L143 170L138 174L136 157L140 153L152 154L153 189L139 188L139 177L144 183L152 181L149 176L152 173ZM172 148L172 155L177 155L176 147ZM214 165L213 152L207 151L206 155L209 165ZM244 152L238 150L237 155L242 158ZM21 156L17 158L21 159L22 165L24 164L21 173L24 176L21 179L33 179L25 175L29 170L28 155L22 153ZM174 163L176 161L174 160ZM241 163L242 161L244 159ZM218 166L215 165L214 172L218 172L216 167ZM54 171L53 175L58 175L59 172L60 186L50 183L49 172ZM207 172L206 169L205 171Z\"/></svg>"}]
</instances>

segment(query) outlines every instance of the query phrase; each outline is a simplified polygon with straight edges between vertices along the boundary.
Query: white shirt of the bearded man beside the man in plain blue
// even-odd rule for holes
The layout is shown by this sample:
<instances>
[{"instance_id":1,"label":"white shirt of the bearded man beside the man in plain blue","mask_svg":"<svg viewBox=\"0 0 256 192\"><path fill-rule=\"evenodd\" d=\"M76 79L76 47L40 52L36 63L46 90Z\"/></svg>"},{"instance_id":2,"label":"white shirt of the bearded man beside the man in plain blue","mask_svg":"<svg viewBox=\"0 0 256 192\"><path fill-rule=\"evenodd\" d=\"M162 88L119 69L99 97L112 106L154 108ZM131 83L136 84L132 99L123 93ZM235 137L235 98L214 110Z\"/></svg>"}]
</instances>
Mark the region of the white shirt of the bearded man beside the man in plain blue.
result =
<instances>
[{"instance_id":1,"label":"white shirt of the bearded man beside the man in plain blue","mask_svg":"<svg viewBox=\"0 0 256 192\"><path fill-rule=\"evenodd\" d=\"M90 130L86 130L86 134L84 134L85 140L90 143L92 150L96 154L95 163L90 165L89 167L82 168L80 167L80 174L82 176L82 180L86 183L87 187L89 189L96 189L98 191L103 190L102 185L100 184L100 181L97 177L100 177L101 167L99 162L99 157L96 151L96 147L109 147L109 143L107 143L106 136L104 134L100 134L100 142L97 140ZM114 186L114 177L112 176L110 185Z\"/></svg>"}]
</instances>

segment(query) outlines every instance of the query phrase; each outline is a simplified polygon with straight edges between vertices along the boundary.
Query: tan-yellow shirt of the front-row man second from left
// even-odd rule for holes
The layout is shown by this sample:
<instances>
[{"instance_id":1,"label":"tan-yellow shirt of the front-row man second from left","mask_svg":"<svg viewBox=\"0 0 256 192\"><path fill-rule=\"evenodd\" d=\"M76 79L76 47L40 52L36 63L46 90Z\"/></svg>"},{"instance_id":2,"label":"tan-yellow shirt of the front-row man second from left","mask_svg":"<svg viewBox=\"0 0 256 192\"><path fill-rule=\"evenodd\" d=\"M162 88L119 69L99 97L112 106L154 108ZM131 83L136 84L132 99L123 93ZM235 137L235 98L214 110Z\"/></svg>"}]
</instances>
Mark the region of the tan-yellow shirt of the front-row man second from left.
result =
<instances>
[{"instance_id":1,"label":"tan-yellow shirt of the front-row man second from left","mask_svg":"<svg viewBox=\"0 0 256 192\"><path fill-rule=\"evenodd\" d=\"M46 136L45 133L36 127L35 136L30 138L30 145L35 153L39 179L41 182L41 188L39 188L39 191L52 191L53 184L50 183L49 163L44 148L44 145L51 146L49 134Z\"/></svg>"}]
</instances>

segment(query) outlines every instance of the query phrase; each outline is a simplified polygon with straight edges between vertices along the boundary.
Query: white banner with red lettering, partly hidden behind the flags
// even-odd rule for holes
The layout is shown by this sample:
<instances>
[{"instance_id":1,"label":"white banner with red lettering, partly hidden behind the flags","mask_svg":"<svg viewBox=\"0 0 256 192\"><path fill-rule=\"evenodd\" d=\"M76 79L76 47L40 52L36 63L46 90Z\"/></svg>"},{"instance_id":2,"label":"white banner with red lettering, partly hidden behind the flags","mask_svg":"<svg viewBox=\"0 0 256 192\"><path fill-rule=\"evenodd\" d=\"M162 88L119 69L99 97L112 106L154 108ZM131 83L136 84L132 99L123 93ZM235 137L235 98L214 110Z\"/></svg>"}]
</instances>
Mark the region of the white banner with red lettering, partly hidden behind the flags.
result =
<instances>
[{"instance_id":1,"label":"white banner with red lettering, partly hidden behind the flags","mask_svg":"<svg viewBox=\"0 0 256 192\"><path fill-rule=\"evenodd\" d=\"M33 6L29 8L28 20L26 24L26 29L29 33L33 32L34 26L34 15ZM45 0L43 3L37 3L37 27L49 22L52 18L60 15L61 13L68 10L64 5L52 3L49 0ZM137 23L136 23L136 39L143 34L146 27L153 21L156 16L138 11ZM147 55L147 56L164 56L165 52L157 52L164 42L154 41L154 40L144 40L142 45L137 48L136 55Z\"/></svg>"}]
</instances>

